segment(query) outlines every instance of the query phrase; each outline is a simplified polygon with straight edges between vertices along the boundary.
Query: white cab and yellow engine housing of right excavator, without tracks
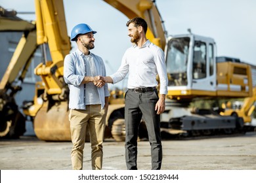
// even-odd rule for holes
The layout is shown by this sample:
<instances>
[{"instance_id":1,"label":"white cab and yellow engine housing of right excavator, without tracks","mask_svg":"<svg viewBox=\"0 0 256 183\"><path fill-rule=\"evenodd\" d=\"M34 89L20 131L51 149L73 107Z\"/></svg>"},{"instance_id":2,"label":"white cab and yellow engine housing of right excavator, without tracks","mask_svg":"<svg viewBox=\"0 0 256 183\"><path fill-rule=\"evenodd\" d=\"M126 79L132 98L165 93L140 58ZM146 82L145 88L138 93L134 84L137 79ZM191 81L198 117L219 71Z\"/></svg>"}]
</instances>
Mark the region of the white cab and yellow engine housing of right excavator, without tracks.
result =
<instances>
[{"instance_id":1,"label":"white cab and yellow engine housing of right excavator, without tracks","mask_svg":"<svg viewBox=\"0 0 256 183\"><path fill-rule=\"evenodd\" d=\"M192 33L169 37L165 56L170 99L192 101L195 97L252 94L247 64L217 62L215 41L209 37Z\"/></svg>"}]
</instances>

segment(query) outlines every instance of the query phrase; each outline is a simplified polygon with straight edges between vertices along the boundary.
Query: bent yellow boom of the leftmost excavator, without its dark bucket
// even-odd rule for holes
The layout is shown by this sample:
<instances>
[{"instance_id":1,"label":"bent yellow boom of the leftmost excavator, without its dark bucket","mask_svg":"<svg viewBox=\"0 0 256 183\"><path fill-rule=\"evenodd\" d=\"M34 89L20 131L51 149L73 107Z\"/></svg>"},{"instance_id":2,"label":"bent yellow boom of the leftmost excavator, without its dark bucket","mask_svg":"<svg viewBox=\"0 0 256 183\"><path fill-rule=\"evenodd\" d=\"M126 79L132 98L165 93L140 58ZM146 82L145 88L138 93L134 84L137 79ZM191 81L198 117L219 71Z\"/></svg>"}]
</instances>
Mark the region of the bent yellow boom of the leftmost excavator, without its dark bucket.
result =
<instances>
[{"instance_id":1,"label":"bent yellow boom of the leftmost excavator, without its dark bucket","mask_svg":"<svg viewBox=\"0 0 256 183\"><path fill-rule=\"evenodd\" d=\"M0 90L4 90L7 85L14 82L20 71L22 71L22 74L19 78L20 80L24 79L33 53L37 48L37 42L35 22L27 22L18 18L14 10L9 11L0 7L0 24L0 31L23 32L9 66L7 67L7 71L0 82Z\"/></svg>"}]
</instances>

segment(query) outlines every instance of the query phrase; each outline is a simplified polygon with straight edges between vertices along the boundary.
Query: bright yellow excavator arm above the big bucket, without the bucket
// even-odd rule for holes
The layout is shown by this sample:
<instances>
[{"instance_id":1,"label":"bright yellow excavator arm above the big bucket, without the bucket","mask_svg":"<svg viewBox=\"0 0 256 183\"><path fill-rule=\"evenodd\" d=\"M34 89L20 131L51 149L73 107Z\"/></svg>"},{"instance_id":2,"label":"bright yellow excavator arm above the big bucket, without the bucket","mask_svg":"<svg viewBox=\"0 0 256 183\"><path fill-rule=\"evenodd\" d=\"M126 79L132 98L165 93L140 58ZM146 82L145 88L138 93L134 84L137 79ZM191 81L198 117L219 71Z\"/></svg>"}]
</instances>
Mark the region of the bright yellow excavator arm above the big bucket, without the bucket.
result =
<instances>
[{"instance_id":1,"label":"bright yellow excavator arm above the big bucket, without the bucket","mask_svg":"<svg viewBox=\"0 0 256 183\"><path fill-rule=\"evenodd\" d=\"M62 0L35 0L35 14L37 22L37 44L45 47L49 45L51 60L45 54L45 64L35 68L35 74L41 76L48 95L63 97L64 57L71 50L70 38L66 28L64 5Z\"/></svg>"}]
</instances>

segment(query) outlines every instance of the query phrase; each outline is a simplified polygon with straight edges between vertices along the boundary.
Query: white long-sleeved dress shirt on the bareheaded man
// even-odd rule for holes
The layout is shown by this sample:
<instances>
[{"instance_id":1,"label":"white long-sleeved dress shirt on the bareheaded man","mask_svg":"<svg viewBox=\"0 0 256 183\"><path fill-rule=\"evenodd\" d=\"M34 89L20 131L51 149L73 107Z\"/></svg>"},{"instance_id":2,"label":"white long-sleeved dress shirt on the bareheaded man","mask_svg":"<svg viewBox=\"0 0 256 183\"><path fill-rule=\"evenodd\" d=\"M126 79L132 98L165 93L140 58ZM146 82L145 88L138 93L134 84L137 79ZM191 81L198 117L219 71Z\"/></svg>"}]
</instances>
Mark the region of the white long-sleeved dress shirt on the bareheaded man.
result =
<instances>
[{"instance_id":1,"label":"white long-sleeved dress shirt on the bareheaded man","mask_svg":"<svg viewBox=\"0 0 256 183\"><path fill-rule=\"evenodd\" d=\"M167 71L163 50L149 40L141 48L134 44L123 55L121 66L110 75L113 84L123 80L129 72L127 88L146 88L158 86L156 75L160 78L160 94L167 94Z\"/></svg>"}]
</instances>

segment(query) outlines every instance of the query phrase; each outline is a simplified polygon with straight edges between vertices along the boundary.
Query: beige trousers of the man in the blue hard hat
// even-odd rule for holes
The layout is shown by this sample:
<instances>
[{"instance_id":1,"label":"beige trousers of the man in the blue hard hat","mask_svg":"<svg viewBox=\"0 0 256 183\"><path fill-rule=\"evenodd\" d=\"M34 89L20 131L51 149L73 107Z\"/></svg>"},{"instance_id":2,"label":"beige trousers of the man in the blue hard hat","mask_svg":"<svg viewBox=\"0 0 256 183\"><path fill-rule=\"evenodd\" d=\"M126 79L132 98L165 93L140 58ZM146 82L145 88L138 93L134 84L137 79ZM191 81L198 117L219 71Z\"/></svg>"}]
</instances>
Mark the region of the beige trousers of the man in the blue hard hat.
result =
<instances>
[{"instance_id":1,"label":"beige trousers of the man in the blue hard hat","mask_svg":"<svg viewBox=\"0 0 256 183\"><path fill-rule=\"evenodd\" d=\"M89 127L91 141L91 166L102 169L102 143L106 124L106 110L101 105L87 105L86 110L70 109L70 130L73 148L71 152L74 170L83 169L83 148L85 147L86 127Z\"/></svg>"}]
</instances>

